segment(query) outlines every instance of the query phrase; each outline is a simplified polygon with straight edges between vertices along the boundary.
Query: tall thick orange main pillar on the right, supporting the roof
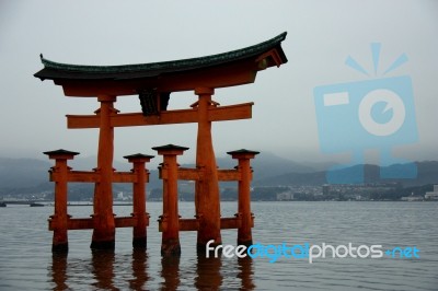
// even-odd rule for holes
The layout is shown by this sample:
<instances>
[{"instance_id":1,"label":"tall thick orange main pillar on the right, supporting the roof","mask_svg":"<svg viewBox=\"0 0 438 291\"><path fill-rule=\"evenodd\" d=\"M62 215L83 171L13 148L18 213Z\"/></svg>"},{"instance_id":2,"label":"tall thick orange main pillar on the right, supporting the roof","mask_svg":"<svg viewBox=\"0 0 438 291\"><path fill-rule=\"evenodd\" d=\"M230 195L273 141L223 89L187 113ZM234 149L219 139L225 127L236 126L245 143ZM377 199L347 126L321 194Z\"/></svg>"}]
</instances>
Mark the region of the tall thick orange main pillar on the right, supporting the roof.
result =
<instances>
[{"instance_id":1,"label":"tall thick orange main pillar on the right, supporting the roof","mask_svg":"<svg viewBox=\"0 0 438 291\"><path fill-rule=\"evenodd\" d=\"M196 181L195 206L196 217L199 219L197 251L204 253L210 240L211 246L222 244L220 235L220 196L218 172L211 139L211 121L208 109L214 105L210 88L197 88L198 95L198 136L196 148L196 167L204 172L203 179Z\"/></svg>"}]
</instances>

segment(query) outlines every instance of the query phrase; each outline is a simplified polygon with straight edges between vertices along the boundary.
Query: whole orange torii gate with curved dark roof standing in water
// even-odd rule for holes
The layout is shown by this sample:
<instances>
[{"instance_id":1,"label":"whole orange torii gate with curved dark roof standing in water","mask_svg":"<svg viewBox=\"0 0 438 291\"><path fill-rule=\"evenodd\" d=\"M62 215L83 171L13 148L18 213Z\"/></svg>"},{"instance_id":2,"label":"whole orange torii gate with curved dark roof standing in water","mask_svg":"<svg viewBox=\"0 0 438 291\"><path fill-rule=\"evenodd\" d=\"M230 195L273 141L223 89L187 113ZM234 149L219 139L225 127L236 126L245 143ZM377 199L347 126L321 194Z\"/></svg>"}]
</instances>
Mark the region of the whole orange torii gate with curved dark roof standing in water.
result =
<instances>
[{"instance_id":1,"label":"whole orange torii gate with curved dark roof standing in water","mask_svg":"<svg viewBox=\"0 0 438 291\"><path fill-rule=\"evenodd\" d=\"M219 106L211 100L217 88L253 83L256 73L287 62L281 49L283 33L269 40L246 48L201 58L127 66L80 66L54 62L42 58L44 69L34 75L61 85L66 96L97 97L101 106L94 115L67 115L68 128L99 128L97 167L92 172L71 171L67 160L77 152L65 150L45 152L56 160L50 179L56 182L55 214L49 220L54 230L53 251L67 251L67 230L93 229L92 248L114 248L115 228L134 226L132 245L146 247L145 164L153 156L125 156L134 164L132 172L113 168L114 128L130 126L197 123L196 168L178 168L176 155L187 148L168 144L155 147L163 155L160 168L163 179L162 254L178 254L178 231L197 231L197 249L206 244L221 244L221 229L238 228L238 244L251 245L253 217L250 208L250 159L258 152L229 152L239 160L237 170L217 170L211 140L211 123L252 117L253 103ZM198 101L189 109L168 110L172 92L194 91ZM114 103L117 96L139 95L142 113L119 113ZM177 179L195 181L195 219L180 219L177 213ZM235 218L220 218L219 181L239 181L239 213ZM72 219L67 213L67 183L95 183L91 219ZM113 183L132 183L134 213L115 218L113 213Z\"/></svg>"}]
</instances>

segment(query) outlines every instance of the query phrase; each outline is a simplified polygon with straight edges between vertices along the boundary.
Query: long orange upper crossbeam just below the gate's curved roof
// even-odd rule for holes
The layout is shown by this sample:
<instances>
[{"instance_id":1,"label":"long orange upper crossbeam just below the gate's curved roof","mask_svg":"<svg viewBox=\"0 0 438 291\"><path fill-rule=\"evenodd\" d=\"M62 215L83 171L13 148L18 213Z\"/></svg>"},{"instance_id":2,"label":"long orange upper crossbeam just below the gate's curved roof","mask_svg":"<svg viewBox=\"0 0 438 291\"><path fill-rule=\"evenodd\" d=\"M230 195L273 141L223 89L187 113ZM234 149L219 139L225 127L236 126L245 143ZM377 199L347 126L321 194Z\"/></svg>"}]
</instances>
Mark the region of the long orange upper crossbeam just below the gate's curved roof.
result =
<instances>
[{"instance_id":1,"label":"long orange upper crossbeam just below the gate's curved roof","mask_svg":"<svg viewBox=\"0 0 438 291\"><path fill-rule=\"evenodd\" d=\"M252 117L252 106L254 103L243 103L237 105L211 107L208 109L210 121L226 121L237 119L249 119ZM161 112L159 115L143 116L142 113L113 113L111 125L113 127L130 126L154 126L189 124L198 121L198 109L180 109ZM99 128L100 115L67 115L67 127L77 128Z\"/></svg>"}]
</instances>

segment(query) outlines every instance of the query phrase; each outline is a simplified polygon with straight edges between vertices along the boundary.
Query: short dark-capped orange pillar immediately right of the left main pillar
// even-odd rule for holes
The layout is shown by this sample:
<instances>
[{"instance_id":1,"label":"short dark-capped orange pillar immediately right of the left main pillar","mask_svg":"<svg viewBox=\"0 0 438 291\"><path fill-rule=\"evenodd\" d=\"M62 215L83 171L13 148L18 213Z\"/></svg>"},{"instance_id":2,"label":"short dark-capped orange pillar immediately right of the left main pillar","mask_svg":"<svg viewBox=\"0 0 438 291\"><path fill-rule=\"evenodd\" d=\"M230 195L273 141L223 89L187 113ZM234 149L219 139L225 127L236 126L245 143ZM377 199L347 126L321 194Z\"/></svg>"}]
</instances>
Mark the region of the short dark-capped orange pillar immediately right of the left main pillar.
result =
<instances>
[{"instance_id":1,"label":"short dark-capped orange pillar immediately right of the left main pillar","mask_svg":"<svg viewBox=\"0 0 438 291\"><path fill-rule=\"evenodd\" d=\"M132 184L132 217L137 219L137 225L132 230L132 247L146 248L146 228L149 225L149 213L146 212L146 183L149 172L145 168L145 164L149 163L153 155L137 153L124 158L134 164L132 171L137 176L137 181Z\"/></svg>"}]
</instances>

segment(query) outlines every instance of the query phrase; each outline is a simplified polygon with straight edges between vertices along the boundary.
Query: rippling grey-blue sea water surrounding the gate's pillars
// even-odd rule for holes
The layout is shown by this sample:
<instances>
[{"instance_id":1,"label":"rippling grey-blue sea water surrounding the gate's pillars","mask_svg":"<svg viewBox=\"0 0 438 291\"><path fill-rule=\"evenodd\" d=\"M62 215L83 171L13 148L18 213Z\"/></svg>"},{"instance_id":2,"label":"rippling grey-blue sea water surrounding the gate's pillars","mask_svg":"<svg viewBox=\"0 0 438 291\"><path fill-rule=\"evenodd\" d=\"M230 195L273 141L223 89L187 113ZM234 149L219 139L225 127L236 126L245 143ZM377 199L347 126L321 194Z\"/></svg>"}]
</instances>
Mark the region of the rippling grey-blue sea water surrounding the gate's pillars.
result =
<instances>
[{"instance_id":1,"label":"rippling grey-blue sea water surrounding the gate's pillars","mask_svg":"<svg viewBox=\"0 0 438 291\"><path fill-rule=\"evenodd\" d=\"M192 202L180 205L192 218ZM157 218L151 214L148 251L132 252L130 229L116 232L115 252L91 252L91 231L69 232L68 256L53 256L47 218L51 207L0 210L0 290L436 290L438 286L438 203L402 202L255 202L254 243L381 244L413 246L419 259L205 258L195 252L196 233L182 232L182 256L162 259ZM222 217L235 212L222 203ZM130 207L115 207L128 216ZM73 217L89 217L91 207L71 207ZM235 244L234 230L222 231Z\"/></svg>"}]
</instances>

